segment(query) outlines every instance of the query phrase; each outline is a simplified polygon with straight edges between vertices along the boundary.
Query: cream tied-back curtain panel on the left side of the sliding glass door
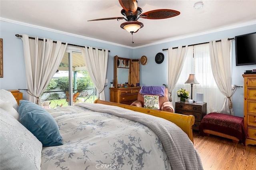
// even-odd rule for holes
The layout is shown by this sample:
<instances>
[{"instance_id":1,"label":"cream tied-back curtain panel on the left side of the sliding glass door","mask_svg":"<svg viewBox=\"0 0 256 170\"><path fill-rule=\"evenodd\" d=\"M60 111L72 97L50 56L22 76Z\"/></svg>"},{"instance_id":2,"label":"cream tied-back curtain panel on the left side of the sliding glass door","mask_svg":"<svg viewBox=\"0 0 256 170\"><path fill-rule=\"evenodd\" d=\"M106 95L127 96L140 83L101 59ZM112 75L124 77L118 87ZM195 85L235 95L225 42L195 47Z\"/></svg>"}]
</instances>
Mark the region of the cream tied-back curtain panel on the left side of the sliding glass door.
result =
<instances>
[{"instance_id":1,"label":"cream tied-back curtain panel on the left side of the sliding glass door","mask_svg":"<svg viewBox=\"0 0 256 170\"><path fill-rule=\"evenodd\" d=\"M28 35L22 35L26 83L27 83L27 100L41 105L40 95L50 83L54 73L58 69L66 44L44 38L43 41L30 39ZM30 94L31 93L31 94Z\"/></svg>"}]
</instances>

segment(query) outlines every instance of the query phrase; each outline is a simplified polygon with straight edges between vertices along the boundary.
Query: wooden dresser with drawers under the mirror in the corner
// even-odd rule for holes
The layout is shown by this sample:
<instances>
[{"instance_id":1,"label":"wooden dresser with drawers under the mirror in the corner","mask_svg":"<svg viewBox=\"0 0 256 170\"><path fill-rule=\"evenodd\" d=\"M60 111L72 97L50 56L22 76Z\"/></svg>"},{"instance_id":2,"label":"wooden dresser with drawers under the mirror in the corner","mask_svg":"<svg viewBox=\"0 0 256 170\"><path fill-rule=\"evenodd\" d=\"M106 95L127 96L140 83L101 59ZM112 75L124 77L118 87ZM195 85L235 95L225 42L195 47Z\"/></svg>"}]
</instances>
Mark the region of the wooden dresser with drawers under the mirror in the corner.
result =
<instances>
[{"instance_id":1,"label":"wooden dresser with drawers under the mirror in the corner","mask_svg":"<svg viewBox=\"0 0 256 170\"><path fill-rule=\"evenodd\" d=\"M140 87L109 88L110 101L130 105L138 98Z\"/></svg>"}]
</instances>

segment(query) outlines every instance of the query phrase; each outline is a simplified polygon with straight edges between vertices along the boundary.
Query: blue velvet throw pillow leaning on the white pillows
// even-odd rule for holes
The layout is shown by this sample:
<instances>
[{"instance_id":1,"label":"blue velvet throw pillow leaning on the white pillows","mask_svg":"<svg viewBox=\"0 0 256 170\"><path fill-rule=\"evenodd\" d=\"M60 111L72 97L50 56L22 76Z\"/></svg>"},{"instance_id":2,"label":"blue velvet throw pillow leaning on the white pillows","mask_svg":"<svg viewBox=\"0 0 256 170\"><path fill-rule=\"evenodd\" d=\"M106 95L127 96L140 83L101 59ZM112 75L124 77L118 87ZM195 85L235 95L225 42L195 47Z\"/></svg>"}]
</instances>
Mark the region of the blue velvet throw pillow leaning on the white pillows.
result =
<instances>
[{"instance_id":1,"label":"blue velvet throw pillow leaning on the white pillows","mask_svg":"<svg viewBox=\"0 0 256 170\"><path fill-rule=\"evenodd\" d=\"M42 142L43 146L62 145L59 127L50 113L26 100L20 100L20 123Z\"/></svg>"}]
</instances>

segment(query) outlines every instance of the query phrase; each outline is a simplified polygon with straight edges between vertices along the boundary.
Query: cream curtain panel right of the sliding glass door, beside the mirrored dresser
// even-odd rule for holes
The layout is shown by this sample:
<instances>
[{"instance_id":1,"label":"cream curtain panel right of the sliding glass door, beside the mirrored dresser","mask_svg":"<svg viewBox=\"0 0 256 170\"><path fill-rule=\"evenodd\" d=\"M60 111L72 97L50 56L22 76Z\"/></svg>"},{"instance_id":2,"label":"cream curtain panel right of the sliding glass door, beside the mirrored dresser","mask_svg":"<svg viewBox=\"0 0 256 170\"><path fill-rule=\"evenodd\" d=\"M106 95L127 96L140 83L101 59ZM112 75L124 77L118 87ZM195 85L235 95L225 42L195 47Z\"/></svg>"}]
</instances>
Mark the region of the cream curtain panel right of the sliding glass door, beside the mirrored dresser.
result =
<instances>
[{"instance_id":1,"label":"cream curtain panel right of the sliding glass door, beside the mirrored dresser","mask_svg":"<svg viewBox=\"0 0 256 170\"><path fill-rule=\"evenodd\" d=\"M108 66L108 49L99 50L85 46L85 48L81 48L81 51L88 73L99 93L99 99L105 100L104 87Z\"/></svg>"}]
</instances>

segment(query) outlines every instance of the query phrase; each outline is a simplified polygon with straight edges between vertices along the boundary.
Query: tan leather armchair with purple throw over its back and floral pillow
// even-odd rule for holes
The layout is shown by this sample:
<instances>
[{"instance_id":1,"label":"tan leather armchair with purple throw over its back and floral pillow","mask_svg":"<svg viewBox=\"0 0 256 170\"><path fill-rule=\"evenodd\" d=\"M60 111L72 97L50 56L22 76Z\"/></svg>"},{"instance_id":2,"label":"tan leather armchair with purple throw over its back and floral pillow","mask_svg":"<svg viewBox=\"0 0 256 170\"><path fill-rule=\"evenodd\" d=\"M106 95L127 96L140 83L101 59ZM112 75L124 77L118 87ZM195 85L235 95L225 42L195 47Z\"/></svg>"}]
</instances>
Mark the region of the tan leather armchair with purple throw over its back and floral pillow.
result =
<instances>
[{"instance_id":1,"label":"tan leather armchair with purple throw over its back and floral pillow","mask_svg":"<svg viewBox=\"0 0 256 170\"><path fill-rule=\"evenodd\" d=\"M138 92L138 98L136 101L134 101L132 106L137 106L137 107L144 107L144 97L142 94L140 94L140 91ZM161 111L166 111L166 112L172 112L174 113L174 107L172 103L168 100L168 89L165 88L164 90L164 96L159 97L159 106Z\"/></svg>"}]
</instances>

